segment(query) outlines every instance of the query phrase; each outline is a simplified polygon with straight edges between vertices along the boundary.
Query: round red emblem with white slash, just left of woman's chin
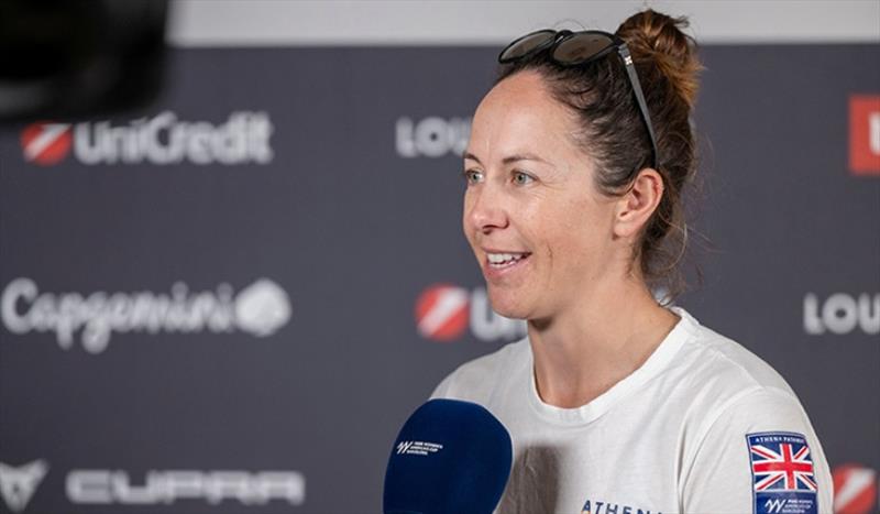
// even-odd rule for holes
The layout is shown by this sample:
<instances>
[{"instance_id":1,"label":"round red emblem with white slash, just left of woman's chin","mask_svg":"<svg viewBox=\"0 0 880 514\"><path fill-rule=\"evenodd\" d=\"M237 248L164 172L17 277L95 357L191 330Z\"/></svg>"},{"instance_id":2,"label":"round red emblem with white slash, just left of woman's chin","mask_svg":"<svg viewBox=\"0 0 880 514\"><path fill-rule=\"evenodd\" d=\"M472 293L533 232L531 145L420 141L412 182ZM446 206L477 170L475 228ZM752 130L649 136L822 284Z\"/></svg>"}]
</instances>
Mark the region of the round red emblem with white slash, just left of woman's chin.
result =
<instances>
[{"instance_id":1,"label":"round red emblem with white slash, just left of woman's chin","mask_svg":"<svg viewBox=\"0 0 880 514\"><path fill-rule=\"evenodd\" d=\"M416 302L416 325L422 337L435 341L460 338L469 320L470 296L461 287L435 284Z\"/></svg>"}]
</instances>

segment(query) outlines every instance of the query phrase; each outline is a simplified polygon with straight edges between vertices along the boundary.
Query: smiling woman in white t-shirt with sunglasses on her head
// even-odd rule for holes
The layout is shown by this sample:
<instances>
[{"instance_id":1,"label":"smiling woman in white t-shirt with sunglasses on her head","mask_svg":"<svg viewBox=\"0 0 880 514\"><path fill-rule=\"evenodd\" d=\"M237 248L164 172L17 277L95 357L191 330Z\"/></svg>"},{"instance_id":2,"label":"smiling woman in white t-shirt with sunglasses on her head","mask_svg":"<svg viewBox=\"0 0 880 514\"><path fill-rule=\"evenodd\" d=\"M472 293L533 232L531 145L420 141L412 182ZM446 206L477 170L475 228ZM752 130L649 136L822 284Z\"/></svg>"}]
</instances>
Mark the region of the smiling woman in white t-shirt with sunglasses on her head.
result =
<instances>
[{"instance_id":1,"label":"smiling woman in white t-shirt with sunglasses on her head","mask_svg":"<svg viewBox=\"0 0 880 514\"><path fill-rule=\"evenodd\" d=\"M648 10L615 35L526 35L474 116L464 233L493 308L528 337L433 396L508 428L499 512L832 511L784 380L651 294L674 293L686 240L700 64L685 25Z\"/></svg>"}]
</instances>

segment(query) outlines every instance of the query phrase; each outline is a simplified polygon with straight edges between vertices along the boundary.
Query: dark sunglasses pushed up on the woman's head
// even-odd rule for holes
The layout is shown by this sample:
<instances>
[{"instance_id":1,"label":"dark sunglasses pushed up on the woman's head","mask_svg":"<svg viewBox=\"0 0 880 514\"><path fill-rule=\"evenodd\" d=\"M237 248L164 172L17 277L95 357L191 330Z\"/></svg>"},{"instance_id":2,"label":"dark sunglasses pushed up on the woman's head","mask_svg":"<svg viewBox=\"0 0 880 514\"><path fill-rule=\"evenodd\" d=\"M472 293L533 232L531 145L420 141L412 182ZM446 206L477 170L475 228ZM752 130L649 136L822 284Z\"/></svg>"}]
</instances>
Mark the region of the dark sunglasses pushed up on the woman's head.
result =
<instances>
[{"instance_id":1,"label":"dark sunglasses pushed up on the woman's head","mask_svg":"<svg viewBox=\"0 0 880 514\"><path fill-rule=\"evenodd\" d=\"M648 113L648 105L645 102L645 95L641 92L641 85L636 74L636 67L632 65L632 57L629 55L629 48L626 47L624 40L603 31L572 32L544 29L518 37L507 45L502 53L498 54L498 63L516 63L538 52L549 51L550 59L553 63L563 67L569 67L586 64L604 57L614 50L617 51L617 54L624 61L626 74L627 77L629 77L629 85L632 86L632 92L636 95L636 101L639 105L641 120L645 122L645 127L648 128L648 135L651 136L653 166L656 168L660 161L660 155L657 151L657 138L653 134L651 116Z\"/></svg>"}]
</instances>

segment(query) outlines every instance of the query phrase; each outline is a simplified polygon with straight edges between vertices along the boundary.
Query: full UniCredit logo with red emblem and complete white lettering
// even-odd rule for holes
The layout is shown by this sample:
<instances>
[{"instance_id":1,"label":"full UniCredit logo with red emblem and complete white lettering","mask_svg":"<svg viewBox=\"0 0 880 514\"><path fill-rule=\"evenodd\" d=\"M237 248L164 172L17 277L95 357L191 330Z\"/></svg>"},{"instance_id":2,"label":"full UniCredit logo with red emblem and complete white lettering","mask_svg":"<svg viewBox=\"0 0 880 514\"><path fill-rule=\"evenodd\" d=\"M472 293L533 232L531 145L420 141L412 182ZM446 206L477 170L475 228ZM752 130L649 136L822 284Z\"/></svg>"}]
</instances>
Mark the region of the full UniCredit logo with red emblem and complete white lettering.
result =
<instances>
[{"instance_id":1,"label":"full UniCredit logo with red emblem and complete white lettering","mask_svg":"<svg viewBox=\"0 0 880 514\"><path fill-rule=\"evenodd\" d=\"M24 160L50 166L70 154L94 164L266 164L272 121L265 112L237 111L220 124L184 121L172 111L128 124L40 122L21 133Z\"/></svg>"}]
</instances>

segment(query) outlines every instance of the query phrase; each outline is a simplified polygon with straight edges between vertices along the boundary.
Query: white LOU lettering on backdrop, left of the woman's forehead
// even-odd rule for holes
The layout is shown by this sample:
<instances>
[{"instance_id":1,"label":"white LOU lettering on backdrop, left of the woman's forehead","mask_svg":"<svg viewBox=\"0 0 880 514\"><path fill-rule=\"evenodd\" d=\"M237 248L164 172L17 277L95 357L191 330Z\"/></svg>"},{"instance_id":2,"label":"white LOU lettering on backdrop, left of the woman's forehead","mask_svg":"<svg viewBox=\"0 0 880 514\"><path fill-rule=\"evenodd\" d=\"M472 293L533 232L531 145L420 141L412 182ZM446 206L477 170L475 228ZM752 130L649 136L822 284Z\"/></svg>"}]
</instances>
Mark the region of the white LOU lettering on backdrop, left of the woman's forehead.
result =
<instances>
[{"instance_id":1,"label":"white LOU lettering on backdrop, left of the woman's forehead","mask_svg":"<svg viewBox=\"0 0 880 514\"><path fill-rule=\"evenodd\" d=\"M398 118L395 124L397 155L402 157L461 157L471 138L471 119L430 117L419 121Z\"/></svg>"}]
</instances>

